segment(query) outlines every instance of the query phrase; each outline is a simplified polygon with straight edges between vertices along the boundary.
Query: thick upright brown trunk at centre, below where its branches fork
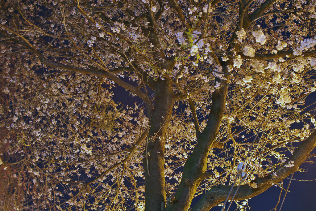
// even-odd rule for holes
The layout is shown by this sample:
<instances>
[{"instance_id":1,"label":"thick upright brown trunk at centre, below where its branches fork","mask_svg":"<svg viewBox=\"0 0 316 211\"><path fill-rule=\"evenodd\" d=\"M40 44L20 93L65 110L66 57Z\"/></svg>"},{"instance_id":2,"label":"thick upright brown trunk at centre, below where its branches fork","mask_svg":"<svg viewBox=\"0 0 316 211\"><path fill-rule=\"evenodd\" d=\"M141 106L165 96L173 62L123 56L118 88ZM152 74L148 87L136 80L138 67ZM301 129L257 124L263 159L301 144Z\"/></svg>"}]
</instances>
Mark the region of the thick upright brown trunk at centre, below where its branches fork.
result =
<instances>
[{"instance_id":1,"label":"thick upright brown trunk at centre, below where its branches fork","mask_svg":"<svg viewBox=\"0 0 316 211\"><path fill-rule=\"evenodd\" d=\"M158 81L155 86L154 112L149 120L147 156L144 155L143 158L146 179L145 211L161 211L161 202L166 201L164 152L174 99L171 81Z\"/></svg>"}]
</instances>

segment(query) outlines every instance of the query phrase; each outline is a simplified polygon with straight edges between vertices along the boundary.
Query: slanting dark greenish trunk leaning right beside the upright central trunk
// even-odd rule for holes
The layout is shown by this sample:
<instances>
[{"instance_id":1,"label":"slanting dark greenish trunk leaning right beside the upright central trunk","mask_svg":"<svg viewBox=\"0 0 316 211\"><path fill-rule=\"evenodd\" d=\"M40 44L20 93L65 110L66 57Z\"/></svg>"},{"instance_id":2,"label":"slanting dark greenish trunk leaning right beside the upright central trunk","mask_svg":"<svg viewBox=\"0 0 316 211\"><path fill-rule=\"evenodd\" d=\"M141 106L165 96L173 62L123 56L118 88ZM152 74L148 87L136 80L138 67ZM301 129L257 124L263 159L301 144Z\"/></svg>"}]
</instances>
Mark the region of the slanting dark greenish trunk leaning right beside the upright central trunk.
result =
<instances>
[{"instance_id":1,"label":"slanting dark greenish trunk leaning right beside the upright central trunk","mask_svg":"<svg viewBox=\"0 0 316 211\"><path fill-rule=\"evenodd\" d=\"M213 93L210 117L204 131L197 136L197 145L185 162L182 179L175 194L173 203L167 204L167 210L187 210L193 196L204 178L207 157L216 138L225 108L227 87L224 86Z\"/></svg>"}]
</instances>

